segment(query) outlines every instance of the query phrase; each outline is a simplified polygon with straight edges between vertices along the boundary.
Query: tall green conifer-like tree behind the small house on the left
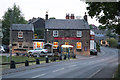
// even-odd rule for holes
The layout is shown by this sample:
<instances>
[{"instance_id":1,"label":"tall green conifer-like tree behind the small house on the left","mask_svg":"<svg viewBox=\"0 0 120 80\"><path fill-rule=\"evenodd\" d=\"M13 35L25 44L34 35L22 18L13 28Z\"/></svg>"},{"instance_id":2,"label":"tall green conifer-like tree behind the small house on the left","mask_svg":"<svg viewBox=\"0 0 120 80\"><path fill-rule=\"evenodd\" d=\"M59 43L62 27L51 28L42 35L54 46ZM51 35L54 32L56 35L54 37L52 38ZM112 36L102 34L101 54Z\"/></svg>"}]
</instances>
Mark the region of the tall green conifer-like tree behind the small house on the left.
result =
<instances>
[{"instance_id":1,"label":"tall green conifer-like tree behind the small house on the left","mask_svg":"<svg viewBox=\"0 0 120 80\"><path fill-rule=\"evenodd\" d=\"M14 6L12 8L8 8L7 12L5 12L2 20L3 27L3 39L2 42L5 45L9 45L9 31L10 25L12 24L26 24L27 21L22 15L19 6Z\"/></svg>"}]
</instances>

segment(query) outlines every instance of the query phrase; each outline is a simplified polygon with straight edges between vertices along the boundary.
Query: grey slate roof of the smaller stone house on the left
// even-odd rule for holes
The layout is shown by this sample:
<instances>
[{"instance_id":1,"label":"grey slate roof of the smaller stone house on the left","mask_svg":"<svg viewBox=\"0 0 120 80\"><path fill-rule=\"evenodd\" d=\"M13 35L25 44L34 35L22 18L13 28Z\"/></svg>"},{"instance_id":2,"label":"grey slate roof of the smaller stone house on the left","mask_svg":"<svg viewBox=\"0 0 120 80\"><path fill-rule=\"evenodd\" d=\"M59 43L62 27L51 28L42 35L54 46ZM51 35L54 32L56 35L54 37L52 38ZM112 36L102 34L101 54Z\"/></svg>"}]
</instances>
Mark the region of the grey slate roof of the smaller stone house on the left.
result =
<instances>
[{"instance_id":1,"label":"grey slate roof of the smaller stone house on the left","mask_svg":"<svg viewBox=\"0 0 120 80\"><path fill-rule=\"evenodd\" d=\"M33 24L12 24L12 30L34 31Z\"/></svg>"}]
</instances>

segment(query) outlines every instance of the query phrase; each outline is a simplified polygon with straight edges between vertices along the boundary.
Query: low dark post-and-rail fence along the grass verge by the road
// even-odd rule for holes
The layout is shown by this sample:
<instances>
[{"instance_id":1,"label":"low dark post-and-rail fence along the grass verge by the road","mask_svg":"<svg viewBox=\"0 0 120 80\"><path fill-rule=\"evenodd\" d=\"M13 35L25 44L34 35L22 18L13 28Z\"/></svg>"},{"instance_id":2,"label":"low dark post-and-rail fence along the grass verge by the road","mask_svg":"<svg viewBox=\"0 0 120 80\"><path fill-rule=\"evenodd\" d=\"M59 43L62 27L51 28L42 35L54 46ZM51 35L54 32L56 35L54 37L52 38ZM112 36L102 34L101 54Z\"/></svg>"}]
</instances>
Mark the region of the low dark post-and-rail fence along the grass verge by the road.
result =
<instances>
[{"instance_id":1,"label":"low dark post-and-rail fence along the grass verge by the road","mask_svg":"<svg viewBox=\"0 0 120 80\"><path fill-rule=\"evenodd\" d=\"M76 58L76 55L74 55L73 58ZM56 60L66 60L66 59L67 59L67 56L64 56L63 58L62 58L62 56L59 56L59 57L48 57L48 56L46 56L45 59L36 59L34 61L26 60L25 62L11 61L10 63L2 63L0 65L10 65L10 69L15 69L16 64L23 64L24 63L25 66L29 66L30 62L36 62L36 64L40 64L40 61L44 61L44 60L45 60L46 63L49 63L50 62L49 60L55 62ZM68 59L70 59L70 58L68 57Z\"/></svg>"}]
</instances>

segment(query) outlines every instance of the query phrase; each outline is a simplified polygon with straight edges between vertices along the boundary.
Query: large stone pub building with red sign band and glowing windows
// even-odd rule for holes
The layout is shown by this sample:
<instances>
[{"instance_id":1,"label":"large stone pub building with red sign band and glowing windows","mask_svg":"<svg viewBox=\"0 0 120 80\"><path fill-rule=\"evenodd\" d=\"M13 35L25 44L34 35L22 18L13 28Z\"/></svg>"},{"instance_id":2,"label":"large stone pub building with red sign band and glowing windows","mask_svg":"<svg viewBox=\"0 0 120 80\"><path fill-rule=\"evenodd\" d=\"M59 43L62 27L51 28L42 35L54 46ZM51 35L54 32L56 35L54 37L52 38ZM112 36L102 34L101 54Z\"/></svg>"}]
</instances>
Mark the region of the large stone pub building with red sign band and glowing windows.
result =
<instances>
[{"instance_id":1,"label":"large stone pub building with red sign band and glowing windows","mask_svg":"<svg viewBox=\"0 0 120 80\"><path fill-rule=\"evenodd\" d=\"M68 15L67 15L68 16ZM49 19L45 22L45 42L53 52L90 55L90 27L84 19Z\"/></svg>"}]
</instances>

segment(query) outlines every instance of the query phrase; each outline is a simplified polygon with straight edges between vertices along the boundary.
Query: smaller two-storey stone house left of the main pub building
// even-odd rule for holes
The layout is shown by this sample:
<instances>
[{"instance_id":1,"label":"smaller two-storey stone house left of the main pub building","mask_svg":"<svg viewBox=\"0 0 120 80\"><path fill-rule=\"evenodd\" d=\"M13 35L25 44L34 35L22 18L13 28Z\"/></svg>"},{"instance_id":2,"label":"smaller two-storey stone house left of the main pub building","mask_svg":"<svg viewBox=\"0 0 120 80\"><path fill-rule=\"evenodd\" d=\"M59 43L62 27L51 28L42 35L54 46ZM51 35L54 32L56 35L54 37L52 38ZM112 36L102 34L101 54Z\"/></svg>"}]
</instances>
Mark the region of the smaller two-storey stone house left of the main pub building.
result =
<instances>
[{"instance_id":1,"label":"smaller two-storey stone house left of the main pub building","mask_svg":"<svg viewBox=\"0 0 120 80\"><path fill-rule=\"evenodd\" d=\"M12 53L26 53L33 49L33 24L12 24Z\"/></svg>"}]
</instances>

